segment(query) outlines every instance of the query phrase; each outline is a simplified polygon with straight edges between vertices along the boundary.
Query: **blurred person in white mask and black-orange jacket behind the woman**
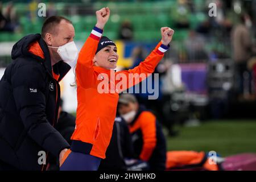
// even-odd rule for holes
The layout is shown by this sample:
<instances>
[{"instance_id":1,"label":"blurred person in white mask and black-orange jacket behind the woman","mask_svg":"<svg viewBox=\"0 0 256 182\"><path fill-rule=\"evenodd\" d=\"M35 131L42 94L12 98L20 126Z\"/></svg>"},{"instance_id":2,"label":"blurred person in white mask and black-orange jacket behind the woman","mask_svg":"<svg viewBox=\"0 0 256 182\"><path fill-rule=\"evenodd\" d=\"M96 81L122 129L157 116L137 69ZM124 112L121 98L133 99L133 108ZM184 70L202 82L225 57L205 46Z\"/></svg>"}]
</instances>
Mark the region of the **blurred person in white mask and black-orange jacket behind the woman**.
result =
<instances>
[{"instance_id":1,"label":"blurred person in white mask and black-orange jacket behind the woman","mask_svg":"<svg viewBox=\"0 0 256 182\"><path fill-rule=\"evenodd\" d=\"M121 94L118 112L129 125L135 157L148 162L150 170L164 170L166 139L155 115L140 106L132 94Z\"/></svg>"}]
</instances>

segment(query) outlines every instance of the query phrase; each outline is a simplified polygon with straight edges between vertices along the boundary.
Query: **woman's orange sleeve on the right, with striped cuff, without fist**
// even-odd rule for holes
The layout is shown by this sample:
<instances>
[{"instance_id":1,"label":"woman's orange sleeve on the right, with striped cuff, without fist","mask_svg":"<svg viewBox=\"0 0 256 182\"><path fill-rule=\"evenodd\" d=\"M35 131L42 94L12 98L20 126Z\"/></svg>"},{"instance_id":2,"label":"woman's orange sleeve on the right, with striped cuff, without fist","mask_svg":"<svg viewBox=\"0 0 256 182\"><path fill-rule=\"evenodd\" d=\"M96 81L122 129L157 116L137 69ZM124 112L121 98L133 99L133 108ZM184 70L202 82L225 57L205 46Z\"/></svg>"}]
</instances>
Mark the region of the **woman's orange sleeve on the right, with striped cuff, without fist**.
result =
<instances>
[{"instance_id":1,"label":"woman's orange sleeve on the right, with striped cuff, without fist","mask_svg":"<svg viewBox=\"0 0 256 182\"><path fill-rule=\"evenodd\" d=\"M155 49L142 61L137 67L129 69L128 71L119 71L116 74L117 81L123 81L119 92L130 88L143 81L148 77L150 73L155 71L156 65L164 56L164 52L168 50L169 46L164 46L161 42L155 47ZM144 73L144 74L141 74ZM125 81L123 78L125 77Z\"/></svg>"}]
</instances>

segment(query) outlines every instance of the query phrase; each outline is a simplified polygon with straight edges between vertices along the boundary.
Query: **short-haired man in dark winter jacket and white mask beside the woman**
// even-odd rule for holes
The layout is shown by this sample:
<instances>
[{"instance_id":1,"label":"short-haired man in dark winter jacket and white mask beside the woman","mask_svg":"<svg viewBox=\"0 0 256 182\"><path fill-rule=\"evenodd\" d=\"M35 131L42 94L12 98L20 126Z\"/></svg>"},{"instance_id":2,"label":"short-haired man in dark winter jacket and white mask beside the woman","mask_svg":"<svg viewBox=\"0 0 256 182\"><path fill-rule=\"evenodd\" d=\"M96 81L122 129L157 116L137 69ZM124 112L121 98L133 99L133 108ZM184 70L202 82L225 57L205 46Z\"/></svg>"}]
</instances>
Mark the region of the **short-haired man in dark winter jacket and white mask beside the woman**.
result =
<instances>
[{"instance_id":1,"label":"short-haired man in dark winter jacket and white mask beside the woman","mask_svg":"<svg viewBox=\"0 0 256 182\"><path fill-rule=\"evenodd\" d=\"M69 148L55 125L59 81L71 68L64 61L77 56L74 36L68 19L51 16L42 35L14 45L13 62L0 81L0 170L46 170L49 158L61 160Z\"/></svg>"}]
</instances>

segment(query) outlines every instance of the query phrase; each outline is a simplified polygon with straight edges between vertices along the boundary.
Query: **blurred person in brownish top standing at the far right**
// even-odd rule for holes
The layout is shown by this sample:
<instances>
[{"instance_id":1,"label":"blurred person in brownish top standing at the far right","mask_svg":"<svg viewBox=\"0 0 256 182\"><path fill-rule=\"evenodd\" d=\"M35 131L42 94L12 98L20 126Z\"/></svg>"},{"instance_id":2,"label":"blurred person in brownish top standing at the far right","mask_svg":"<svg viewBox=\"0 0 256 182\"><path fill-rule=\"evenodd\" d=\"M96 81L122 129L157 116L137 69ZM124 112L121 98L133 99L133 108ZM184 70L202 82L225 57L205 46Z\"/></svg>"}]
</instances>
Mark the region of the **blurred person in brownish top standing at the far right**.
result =
<instances>
[{"instance_id":1,"label":"blurred person in brownish top standing at the far right","mask_svg":"<svg viewBox=\"0 0 256 182\"><path fill-rule=\"evenodd\" d=\"M252 53L252 39L250 28L252 26L250 16L241 15L241 23L232 31L233 59L238 75L238 94L251 93L251 73L247 69L247 61Z\"/></svg>"}]
</instances>

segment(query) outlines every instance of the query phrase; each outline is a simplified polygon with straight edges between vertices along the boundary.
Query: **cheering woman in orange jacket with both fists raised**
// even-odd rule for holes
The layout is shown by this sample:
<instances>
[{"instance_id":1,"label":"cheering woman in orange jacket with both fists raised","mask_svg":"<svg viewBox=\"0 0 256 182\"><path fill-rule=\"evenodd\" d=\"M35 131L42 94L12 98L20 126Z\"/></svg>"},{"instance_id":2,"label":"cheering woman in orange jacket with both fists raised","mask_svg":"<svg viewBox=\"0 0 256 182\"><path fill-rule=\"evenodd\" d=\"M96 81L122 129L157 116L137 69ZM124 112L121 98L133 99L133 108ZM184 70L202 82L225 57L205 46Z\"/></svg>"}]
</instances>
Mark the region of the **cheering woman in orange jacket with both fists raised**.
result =
<instances>
[{"instance_id":1,"label":"cheering woman in orange jacket with both fists raised","mask_svg":"<svg viewBox=\"0 0 256 182\"><path fill-rule=\"evenodd\" d=\"M112 40L102 36L109 15L108 7L96 11L96 26L77 59L76 127L71 137L71 148L60 164L61 170L98 169L101 159L105 159L112 136L118 93L143 80L142 77L133 75L154 72L174 34L171 28L162 27L162 40L146 60L128 71L115 72L113 69L117 67L117 47Z\"/></svg>"}]
</instances>

